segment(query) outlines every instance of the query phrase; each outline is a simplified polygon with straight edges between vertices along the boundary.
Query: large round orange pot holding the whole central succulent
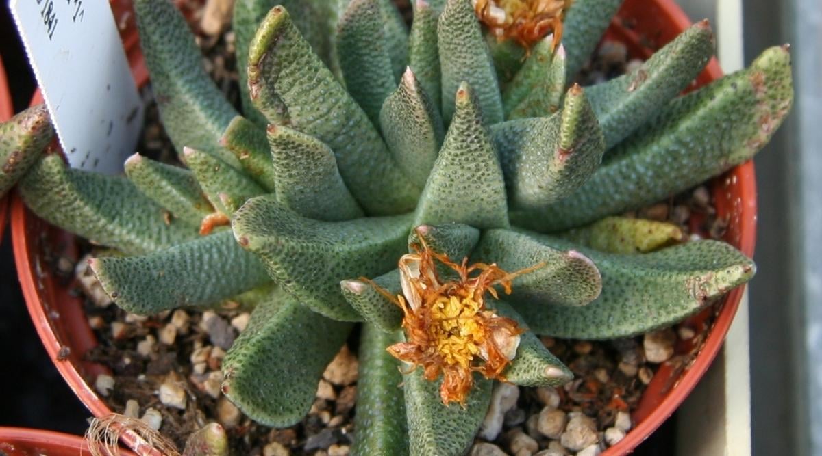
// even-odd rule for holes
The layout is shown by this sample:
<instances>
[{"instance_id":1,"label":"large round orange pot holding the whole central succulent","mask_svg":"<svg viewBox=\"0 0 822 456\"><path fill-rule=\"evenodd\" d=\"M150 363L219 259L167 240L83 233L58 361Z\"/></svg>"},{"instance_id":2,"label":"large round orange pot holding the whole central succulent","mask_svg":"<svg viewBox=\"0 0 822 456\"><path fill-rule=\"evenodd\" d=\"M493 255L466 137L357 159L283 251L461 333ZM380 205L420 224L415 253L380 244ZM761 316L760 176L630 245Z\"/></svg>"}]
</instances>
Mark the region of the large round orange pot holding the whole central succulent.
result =
<instances>
[{"instance_id":1,"label":"large round orange pot holding the whole central succulent","mask_svg":"<svg viewBox=\"0 0 822 456\"><path fill-rule=\"evenodd\" d=\"M689 25L689 19L673 0L626 0L612 21L605 39L626 43L631 57L647 58L653 50L662 47ZM124 41L130 43L128 39ZM147 74L141 57L129 52L129 61L132 62L138 84L145 83ZM714 59L693 88L721 75L722 71ZM753 162L746 162L719 176L710 183L710 187L718 217L728 221L724 239L752 257L756 235ZM693 221L693 225L697 226L697 222ZM91 413L96 417L110 413L104 401L90 387L97 374L106 372L106 368L83 360L83 354L95 346L96 340L83 314L82 301L72 296L70 283L53 274L52 264L48 260L60 256L76 259L74 236L48 226L29 212L20 198L15 198L12 202L12 237L26 304L49 356ZM48 257L47 252L50 254ZM680 353L695 353L694 358L685 365L663 363L633 414L635 426L625 439L603 454L610 456L629 453L685 400L721 348L737 312L742 292L743 287L732 290L721 303L705 309L684 323L693 327L697 333L709 326L707 337L699 347L686 344L677 347ZM714 314L716 317L712 320ZM64 347L69 349L69 353L58 357ZM127 435L125 441L138 454L147 454L145 446L135 446L134 435Z\"/></svg>"}]
</instances>

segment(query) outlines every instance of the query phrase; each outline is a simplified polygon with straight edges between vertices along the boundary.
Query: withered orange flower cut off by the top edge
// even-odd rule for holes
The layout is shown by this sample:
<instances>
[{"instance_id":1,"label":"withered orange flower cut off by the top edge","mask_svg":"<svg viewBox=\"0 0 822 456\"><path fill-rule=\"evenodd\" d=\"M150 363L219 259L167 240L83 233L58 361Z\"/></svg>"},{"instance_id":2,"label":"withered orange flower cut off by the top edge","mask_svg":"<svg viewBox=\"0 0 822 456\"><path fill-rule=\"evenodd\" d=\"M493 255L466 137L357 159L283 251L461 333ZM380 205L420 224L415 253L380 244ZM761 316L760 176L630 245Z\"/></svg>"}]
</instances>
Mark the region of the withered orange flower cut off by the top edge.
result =
<instances>
[{"instance_id":1,"label":"withered orange flower cut off by the top edge","mask_svg":"<svg viewBox=\"0 0 822 456\"><path fill-rule=\"evenodd\" d=\"M562 39L562 19L571 0L473 0L474 11L497 39L514 39L523 48L553 33L553 48Z\"/></svg>"}]
</instances>

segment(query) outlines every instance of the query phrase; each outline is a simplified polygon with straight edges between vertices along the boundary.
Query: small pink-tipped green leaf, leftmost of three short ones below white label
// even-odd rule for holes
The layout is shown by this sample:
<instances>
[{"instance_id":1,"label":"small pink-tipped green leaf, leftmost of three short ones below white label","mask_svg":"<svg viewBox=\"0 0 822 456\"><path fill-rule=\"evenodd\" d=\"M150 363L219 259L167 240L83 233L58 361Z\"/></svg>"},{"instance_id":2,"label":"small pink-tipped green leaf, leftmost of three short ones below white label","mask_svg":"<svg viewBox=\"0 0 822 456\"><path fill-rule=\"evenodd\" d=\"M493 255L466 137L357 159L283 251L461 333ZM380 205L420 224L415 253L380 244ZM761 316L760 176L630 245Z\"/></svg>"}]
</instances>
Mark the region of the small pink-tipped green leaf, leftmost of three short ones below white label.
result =
<instances>
[{"instance_id":1,"label":"small pink-tipped green leaf, leftmost of three short ones below white label","mask_svg":"<svg viewBox=\"0 0 822 456\"><path fill-rule=\"evenodd\" d=\"M200 226L203 218L214 212L194 174L185 168L135 153L126 160L126 176L142 194L187 224Z\"/></svg>"}]
</instances>

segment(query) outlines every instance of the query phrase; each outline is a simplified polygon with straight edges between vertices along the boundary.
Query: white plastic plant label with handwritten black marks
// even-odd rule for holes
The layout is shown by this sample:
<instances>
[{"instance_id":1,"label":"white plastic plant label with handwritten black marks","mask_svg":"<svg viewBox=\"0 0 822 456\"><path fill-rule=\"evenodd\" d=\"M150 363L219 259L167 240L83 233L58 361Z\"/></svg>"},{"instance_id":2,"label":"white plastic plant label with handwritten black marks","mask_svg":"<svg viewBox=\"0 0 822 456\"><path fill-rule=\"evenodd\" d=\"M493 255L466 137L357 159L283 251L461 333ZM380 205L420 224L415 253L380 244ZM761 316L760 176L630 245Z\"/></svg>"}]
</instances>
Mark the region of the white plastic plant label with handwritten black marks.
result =
<instances>
[{"instance_id":1,"label":"white plastic plant label with handwritten black marks","mask_svg":"<svg viewBox=\"0 0 822 456\"><path fill-rule=\"evenodd\" d=\"M10 0L68 162L115 174L143 110L106 0Z\"/></svg>"}]
</instances>

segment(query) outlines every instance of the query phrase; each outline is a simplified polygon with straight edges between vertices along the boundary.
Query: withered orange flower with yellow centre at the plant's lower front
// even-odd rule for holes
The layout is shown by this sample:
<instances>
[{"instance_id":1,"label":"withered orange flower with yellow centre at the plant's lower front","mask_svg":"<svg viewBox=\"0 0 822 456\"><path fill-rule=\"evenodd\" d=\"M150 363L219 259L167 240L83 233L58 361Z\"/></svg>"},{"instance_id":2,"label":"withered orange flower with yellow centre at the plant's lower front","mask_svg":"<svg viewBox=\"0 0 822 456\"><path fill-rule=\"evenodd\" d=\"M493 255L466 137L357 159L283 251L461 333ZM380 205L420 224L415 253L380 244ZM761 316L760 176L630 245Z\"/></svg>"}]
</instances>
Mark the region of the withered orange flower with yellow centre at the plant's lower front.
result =
<instances>
[{"instance_id":1,"label":"withered orange flower with yellow centre at the plant's lower front","mask_svg":"<svg viewBox=\"0 0 822 456\"><path fill-rule=\"evenodd\" d=\"M468 266L468 258L456 264L428 248L422 240L425 228L417 229L421 241L414 246L416 252L399 259L404 296L395 298L371 283L404 313L406 341L391 345L388 352L414 367L422 366L428 381L442 373L442 403L465 404L473 386L472 372L505 381L502 372L514 358L524 332L516 321L486 308L485 294L496 298L494 285L502 285L509 294L511 280L543 267L543 263L515 273L503 271L496 264ZM436 262L455 271L456 279L442 280Z\"/></svg>"}]
</instances>

